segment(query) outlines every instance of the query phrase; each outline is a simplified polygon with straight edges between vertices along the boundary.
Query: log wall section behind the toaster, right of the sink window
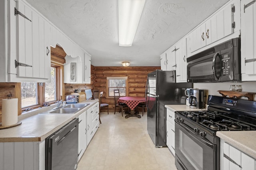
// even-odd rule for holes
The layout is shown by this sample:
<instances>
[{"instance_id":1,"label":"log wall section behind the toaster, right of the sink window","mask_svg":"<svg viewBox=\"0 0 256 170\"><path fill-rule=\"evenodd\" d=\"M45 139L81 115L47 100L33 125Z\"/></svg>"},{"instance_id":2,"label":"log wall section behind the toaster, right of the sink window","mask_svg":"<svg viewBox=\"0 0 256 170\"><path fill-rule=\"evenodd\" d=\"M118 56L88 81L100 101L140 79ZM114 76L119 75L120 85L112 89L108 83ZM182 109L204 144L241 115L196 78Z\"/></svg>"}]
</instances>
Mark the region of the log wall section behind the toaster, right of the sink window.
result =
<instances>
[{"instance_id":1,"label":"log wall section behind the toaster, right of the sink window","mask_svg":"<svg viewBox=\"0 0 256 170\"><path fill-rule=\"evenodd\" d=\"M84 92L85 89L94 89L94 79L95 79L95 75L94 75L94 70L95 67L93 65L91 65L91 83L90 84L69 84L69 83L64 83L65 85L65 98L64 100L66 100L66 96L70 95L71 93L74 93L75 89L80 88L82 92Z\"/></svg>"}]
</instances>

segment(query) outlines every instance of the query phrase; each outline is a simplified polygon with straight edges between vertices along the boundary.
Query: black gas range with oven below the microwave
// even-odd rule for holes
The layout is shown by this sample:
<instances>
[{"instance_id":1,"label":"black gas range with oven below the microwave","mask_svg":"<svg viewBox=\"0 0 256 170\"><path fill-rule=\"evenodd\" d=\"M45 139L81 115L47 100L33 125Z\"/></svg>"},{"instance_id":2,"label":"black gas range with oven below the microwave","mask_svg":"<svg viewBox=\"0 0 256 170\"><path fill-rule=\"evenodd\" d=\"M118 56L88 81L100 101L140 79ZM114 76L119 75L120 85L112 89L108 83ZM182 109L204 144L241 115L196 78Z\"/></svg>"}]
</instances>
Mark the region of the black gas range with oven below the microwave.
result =
<instances>
[{"instance_id":1,"label":"black gas range with oven below the microwave","mask_svg":"<svg viewBox=\"0 0 256 170\"><path fill-rule=\"evenodd\" d=\"M208 96L207 111L175 112L178 170L220 169L217 131L256 130L256 102Z\"/></svg>"}]
</instances>

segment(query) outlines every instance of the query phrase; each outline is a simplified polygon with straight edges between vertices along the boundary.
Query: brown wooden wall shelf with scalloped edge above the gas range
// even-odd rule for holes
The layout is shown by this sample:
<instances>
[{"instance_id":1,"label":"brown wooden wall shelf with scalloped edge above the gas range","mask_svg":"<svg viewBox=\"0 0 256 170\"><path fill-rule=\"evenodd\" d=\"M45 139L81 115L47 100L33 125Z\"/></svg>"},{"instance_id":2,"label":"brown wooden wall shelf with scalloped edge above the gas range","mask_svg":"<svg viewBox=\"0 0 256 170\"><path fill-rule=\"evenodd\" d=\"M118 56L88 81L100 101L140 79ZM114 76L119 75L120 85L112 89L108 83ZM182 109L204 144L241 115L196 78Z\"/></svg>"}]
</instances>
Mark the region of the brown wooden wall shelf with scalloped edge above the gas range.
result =
<instances>
[{"instance_id":1,"label":"brown wooden wall shelf with scalloped edge above the gas range","mask_svg":"<svg viewBox=\"0 0 256 170\"><path fill-rule=\"evenodd\" d=\"M241 97L247 97L248 100L253 101L253 95L256 93L251 93L251 92L244 92L244 91L226 91L226 90L218 90L218 92L223 96L223 97L231 97L231 98L241 98Z\"/></svg>"}]
</instances>

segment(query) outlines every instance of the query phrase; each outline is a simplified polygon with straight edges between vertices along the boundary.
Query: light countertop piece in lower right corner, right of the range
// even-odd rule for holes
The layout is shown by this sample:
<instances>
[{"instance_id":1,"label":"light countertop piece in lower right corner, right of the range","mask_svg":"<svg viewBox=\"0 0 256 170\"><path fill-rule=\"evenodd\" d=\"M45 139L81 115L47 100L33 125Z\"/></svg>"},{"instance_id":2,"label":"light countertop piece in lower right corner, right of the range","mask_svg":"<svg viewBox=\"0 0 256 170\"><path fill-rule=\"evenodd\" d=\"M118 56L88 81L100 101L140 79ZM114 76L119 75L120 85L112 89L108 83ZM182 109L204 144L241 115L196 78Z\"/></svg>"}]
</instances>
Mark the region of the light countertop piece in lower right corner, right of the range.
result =
<instances>
[{"instance_id":1,"label":"light countertop piece in lower right corner, right of the range","mask_svg":"<svg viewBox=\"0 0 256 170\"><path fill-rule=\"evenodd\" d=\"M256 131L218 131L216 135L256 159Z\"/></svg>"}]
</instances>

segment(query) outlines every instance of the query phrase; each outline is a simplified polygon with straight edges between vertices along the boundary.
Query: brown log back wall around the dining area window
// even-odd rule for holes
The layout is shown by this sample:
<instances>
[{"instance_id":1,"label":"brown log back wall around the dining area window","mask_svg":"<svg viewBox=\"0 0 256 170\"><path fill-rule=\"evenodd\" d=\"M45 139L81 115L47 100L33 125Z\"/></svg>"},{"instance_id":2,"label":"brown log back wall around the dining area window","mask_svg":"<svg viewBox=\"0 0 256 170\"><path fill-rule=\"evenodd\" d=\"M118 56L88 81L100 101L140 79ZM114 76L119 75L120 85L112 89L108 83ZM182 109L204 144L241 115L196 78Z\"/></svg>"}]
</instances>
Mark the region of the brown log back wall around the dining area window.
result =
<instances>
[{"instance_id":1,"label":"brown log back wall around the dining area window","mask_svg":"<svg viewBox=\"0 0 256 170\"><path fill-rule=\"evenodd\" d=\"M108 103L109 111L114 112L114 97L106 98L106 77L128 77L128 96L144 97L148 73L156 69L161 67L95 67L94 89L103 91L102 103Z\"/></svg>"}]
</instances>

